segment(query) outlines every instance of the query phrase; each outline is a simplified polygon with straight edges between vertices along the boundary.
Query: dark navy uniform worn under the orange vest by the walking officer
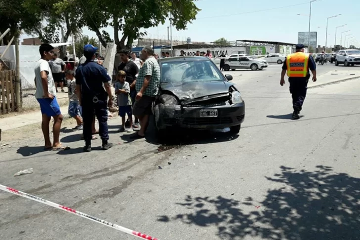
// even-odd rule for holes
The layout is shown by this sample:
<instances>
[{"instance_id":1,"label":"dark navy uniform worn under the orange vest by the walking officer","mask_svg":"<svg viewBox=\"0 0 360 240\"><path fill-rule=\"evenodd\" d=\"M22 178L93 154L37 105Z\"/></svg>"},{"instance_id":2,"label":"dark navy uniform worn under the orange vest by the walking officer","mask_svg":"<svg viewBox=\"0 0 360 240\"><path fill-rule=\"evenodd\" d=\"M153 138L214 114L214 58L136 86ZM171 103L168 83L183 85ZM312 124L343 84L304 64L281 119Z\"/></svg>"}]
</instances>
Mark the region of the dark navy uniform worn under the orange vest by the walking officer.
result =
<instances>
[{"instance_id":1,"label":"dark navy uniform worn under the orange vest by the walking officer","mask_svg":"<svg viewBox=\"0 0 360 240\"><path fill-rule=\"evenodd\" d=\"M301 50L297 49L297 53L300 51ZM295 54L296 53L291 54L291 55L295 55ZM282 69L287 70L287 71L290 70L290 69L288 69L288 64L287 64L288 57L289 56L287 56L286 61L284 62L283 66L282 66ZM305 77L299 77L299 76L291 77L291 76L289 76L289 73L288 73L289 83L290 83L290 94L292 96L294 114L296 114L296 115L298 115L300 113L303 103L304 103L304 100L305 100L305 97L306 97L306 93L308 90L308 83L309 83L309 79L310 79L310 70L311 71L316 70L316 64L315 64L315 61L314 61L314 58L312 55L308 56L306 65L307 65L307 73L305 74ZM304 65L303 65L303 67L304 67Z\"/></svg>"}]
</instances>

